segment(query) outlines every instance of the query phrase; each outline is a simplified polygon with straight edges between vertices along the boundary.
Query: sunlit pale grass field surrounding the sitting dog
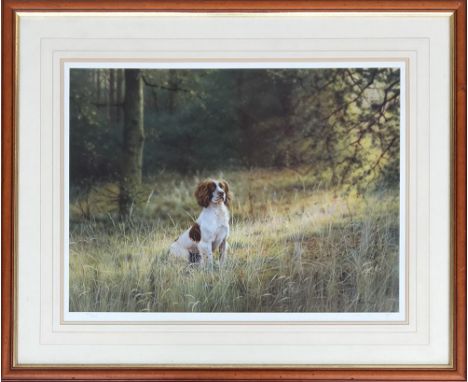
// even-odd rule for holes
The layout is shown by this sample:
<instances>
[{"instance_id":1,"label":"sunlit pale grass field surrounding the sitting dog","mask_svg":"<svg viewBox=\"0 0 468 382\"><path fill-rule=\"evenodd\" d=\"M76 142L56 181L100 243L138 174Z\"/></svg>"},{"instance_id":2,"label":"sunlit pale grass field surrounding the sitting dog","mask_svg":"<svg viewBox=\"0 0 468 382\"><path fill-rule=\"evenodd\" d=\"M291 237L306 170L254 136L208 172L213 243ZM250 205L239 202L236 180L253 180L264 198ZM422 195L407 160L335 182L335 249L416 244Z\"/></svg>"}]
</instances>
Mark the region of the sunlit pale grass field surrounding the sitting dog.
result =
<instances>
[{"instance_id":1,"label":"sunlit pale grass field surrounding the sitting dog","mask_svg":"<svg viewBox=\"0 0 468 382\"><path fill-rule=\"evenodd\" d=\"M116 185L70 206L70 311L398 311L398 192L322 190L293 171L232 171L230 251L213 269L173 260L169 245L200 208L202 177L145 181L133 219Z\"/></svg>"}]
</instances>

